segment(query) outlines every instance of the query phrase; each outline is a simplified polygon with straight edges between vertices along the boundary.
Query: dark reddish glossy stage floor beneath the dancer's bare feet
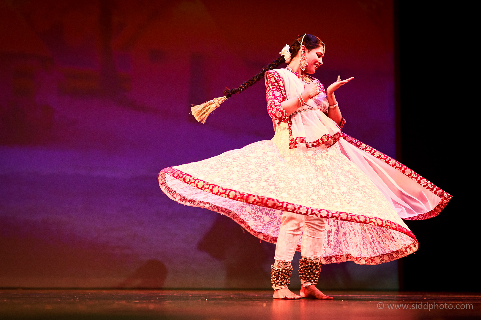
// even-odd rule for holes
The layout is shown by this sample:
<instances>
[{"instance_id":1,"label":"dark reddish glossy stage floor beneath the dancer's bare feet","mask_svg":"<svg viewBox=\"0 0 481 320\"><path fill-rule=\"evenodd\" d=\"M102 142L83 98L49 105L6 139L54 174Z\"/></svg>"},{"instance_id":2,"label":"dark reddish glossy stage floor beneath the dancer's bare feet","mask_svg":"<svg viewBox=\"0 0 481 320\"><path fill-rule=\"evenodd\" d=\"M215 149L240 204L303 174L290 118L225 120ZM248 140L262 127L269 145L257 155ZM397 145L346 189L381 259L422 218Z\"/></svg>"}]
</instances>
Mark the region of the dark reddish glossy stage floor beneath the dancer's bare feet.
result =
<instances>
[{"instance_id":1,"label":"dark reddish glossy stage floor beneath the dancer's bare feet","mask_svg":"<svg viewBox=\"0 0 481 320\"><path fill-rule=\"evenodd\" d=\"M274 300L266 290L0 290L0 319L479 319L481 294L325 291Z\"/></svg>"}]
</instances>

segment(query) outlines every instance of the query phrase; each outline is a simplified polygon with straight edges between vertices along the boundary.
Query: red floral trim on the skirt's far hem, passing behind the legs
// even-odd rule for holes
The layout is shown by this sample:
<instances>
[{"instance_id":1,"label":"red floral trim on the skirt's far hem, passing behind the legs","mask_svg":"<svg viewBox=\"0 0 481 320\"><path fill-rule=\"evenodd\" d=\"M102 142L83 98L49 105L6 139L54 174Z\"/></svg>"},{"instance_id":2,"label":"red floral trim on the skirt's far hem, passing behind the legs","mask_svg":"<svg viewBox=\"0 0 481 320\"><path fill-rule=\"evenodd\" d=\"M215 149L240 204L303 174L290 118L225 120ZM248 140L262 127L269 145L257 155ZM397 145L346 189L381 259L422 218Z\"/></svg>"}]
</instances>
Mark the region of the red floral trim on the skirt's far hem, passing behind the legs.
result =
<instances>
[{"instance_id":1,"label":"red floral trim on the skirt's far hem, passing behind the legs","mask_svg":"<svg viewBox=\"0 0 481 320\"><path fill-rule=\"evenodd\" d=\"M171 169L171 168L166 168L166 169ZM223 214L225 216L228 216L230 219L234 220L237 224L241 225L245 230L247 230L247 232L249 232L254 237L257 237L261 240L264 240L266 242L270 242L273 244L277 243L277 237L272 237L272 236L266 235L265 233L255 231L249 224L247 224L247 222L244 219L239 217L236 213L226 208L216 206L215 204L212 204L210 202L192 200L190 198L184 197L183 195L177 193L175 190L173 190L167 185L165 181L165 175L167 173L164 170L162 170L159 173L159 185L162 191L164 191L164 193L172 200L182 204L190 205L190 206L205 208L205 209ZM417 249L418 249L418 240L413 239L413 241L409 245L401 249L392 251L390 253L382 254L379 256L375 256L375 257L354 257L351 254L340 254L340 255L323 257L321 259L322 259L322 262L325 264L338 263L338 262L344 262L344 261L354 261L355 263L358 263L358 264L380 264L380 263L394 261L396 259L405 257L415 252ZM296 250L300 252L301 247L298 245Z\"/></svg>"}]
</instances>

